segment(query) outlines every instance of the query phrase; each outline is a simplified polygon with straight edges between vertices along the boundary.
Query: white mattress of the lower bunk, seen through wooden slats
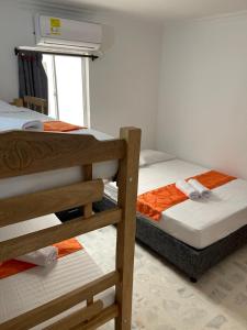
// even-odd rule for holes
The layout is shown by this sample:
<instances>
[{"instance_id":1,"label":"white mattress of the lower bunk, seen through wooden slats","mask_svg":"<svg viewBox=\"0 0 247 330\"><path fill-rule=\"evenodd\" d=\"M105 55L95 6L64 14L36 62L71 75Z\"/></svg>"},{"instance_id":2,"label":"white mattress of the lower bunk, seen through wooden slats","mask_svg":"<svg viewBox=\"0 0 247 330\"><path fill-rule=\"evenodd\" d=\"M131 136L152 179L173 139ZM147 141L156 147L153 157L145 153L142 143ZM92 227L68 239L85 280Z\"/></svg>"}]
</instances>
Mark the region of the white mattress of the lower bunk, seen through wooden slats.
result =
<instances>
[{"instance_id":1,"label":"white mattress of the lower bunk, seen through wooden slats","mask_svg":"<svg viewBox=\"0 0 247 330\"><path fill-rule=\"evenodd\" d=\"M55 216L46 216L0 229L0 241L38 229L56 226L60 221ZM0 323L30 309L55 299L102 275L101 270L85 251L78 251L59 258L48 267L34 267L16 275L0 279ZM114 302L114 290L108 289L96 297L104 307ZM33 328L44 329L59 318L85 306L85 302Z\"/></svg>"}]
</instances>

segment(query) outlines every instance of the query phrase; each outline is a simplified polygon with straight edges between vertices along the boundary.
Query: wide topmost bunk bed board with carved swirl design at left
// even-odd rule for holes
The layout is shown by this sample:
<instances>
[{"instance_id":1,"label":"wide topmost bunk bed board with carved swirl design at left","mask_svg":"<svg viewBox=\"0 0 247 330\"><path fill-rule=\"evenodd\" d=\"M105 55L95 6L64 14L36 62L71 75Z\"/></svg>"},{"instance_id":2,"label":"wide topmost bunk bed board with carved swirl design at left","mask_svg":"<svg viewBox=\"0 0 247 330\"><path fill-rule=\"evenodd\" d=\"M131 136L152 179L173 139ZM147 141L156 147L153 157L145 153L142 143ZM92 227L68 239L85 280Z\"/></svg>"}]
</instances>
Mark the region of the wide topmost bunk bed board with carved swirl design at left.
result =
<instances>
[{"instance_id":1,"label":"wide topmost bunk bed board with carved swirl design at left","mask_svg":"<svg viewBox=\"0 0 247 330\"><path fill-rule=\"evenodd\" d=\"M0 178L82 166L125 155L125 141L92 135L11 131L0 133Z\"/></svg>"}]
</instances>

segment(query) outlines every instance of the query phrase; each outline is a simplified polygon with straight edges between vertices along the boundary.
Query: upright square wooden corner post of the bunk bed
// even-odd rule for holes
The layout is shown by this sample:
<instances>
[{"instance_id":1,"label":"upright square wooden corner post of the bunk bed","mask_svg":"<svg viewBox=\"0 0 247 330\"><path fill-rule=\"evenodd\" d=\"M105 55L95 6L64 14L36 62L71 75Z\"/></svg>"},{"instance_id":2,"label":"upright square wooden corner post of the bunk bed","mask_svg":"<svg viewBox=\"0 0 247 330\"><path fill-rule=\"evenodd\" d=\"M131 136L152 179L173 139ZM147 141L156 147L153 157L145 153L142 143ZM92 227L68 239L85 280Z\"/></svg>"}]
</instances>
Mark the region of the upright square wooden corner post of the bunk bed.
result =
<instances>
[{"instance_id":1,"label":"upright square wooden corner post of the bunk bed","mask_svg":"<svg viewBox=\"0 0 247 330\"><path fill-rule=\"evenodd\" d=\"M126 155L120 161L117 177L117 204L123 213L122 221L117 224L116 238L116 270L121 280L116 285L120 311L115 319L115 329L131 330L141 130L121 129L120 139L126 141Z\"/></svg>"}]
</instances>

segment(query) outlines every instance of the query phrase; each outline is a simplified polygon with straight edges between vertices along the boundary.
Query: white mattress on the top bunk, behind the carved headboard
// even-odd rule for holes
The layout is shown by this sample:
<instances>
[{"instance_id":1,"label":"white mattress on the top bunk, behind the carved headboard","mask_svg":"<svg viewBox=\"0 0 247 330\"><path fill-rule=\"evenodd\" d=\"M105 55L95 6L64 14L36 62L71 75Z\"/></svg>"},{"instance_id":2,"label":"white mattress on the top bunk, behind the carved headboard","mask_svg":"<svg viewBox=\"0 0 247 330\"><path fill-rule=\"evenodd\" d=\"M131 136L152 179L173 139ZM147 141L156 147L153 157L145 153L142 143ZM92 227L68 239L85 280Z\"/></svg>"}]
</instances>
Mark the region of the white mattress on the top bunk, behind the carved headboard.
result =
<instances>
[{"instance_id":1,"label":"white mattress on the top bunk, behind the carved headboard","mask_svg":"<svg viewBox=\"0 0 247 330\"><path fill-rule=\"evenodd\" d=\"M0 101L0 116L14 117L26 120L53 120L44 114L35 111L16 108ZM70 132L69 134L91 134L100 141L112 140L113 138L98 132L96 130L83 129ZM117 170L117 162L109 161L93 164L93 178L112 178ZM45 173L32 174L22 177L7 178L0 180L0 198L7 198L21 194L35 193L42 189L56 188L64 185L70 185L83 179L83 170L81 167L70 167L65 169L49 170Z\"/></svg>"}]
</instances>

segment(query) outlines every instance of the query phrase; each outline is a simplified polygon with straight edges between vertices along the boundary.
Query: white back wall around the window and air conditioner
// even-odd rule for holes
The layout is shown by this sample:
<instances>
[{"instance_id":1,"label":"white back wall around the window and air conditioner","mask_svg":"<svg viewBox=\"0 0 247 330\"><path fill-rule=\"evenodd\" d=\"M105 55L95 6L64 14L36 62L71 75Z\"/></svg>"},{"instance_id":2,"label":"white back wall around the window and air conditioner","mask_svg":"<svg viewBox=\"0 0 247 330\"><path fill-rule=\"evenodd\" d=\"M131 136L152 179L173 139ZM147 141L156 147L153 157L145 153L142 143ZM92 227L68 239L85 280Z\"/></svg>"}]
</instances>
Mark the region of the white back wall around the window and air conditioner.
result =
<instances>
[{"instance_id":1,"label":"white back wall around the window and air conditioner","mask_svg":"<svg viewBox=\"0 0 247 330\"><path fill-rule=\"evenodd\" d=\"M18 64L13 50L34 45L35 13L86 19L108 24L114 44L90 64L92 127L119 135L123 125L143 129L143 146L153 147L158 107L161 33L159 25L116 13L49 6L49 1L1 0L0 99L18 97ZM112 31L111 31L112 30ZM108 37L105 38L109 43ZM110 40L111 43L111 40Z\"/></svg>"}]
</instances>

